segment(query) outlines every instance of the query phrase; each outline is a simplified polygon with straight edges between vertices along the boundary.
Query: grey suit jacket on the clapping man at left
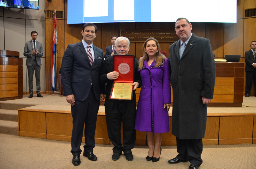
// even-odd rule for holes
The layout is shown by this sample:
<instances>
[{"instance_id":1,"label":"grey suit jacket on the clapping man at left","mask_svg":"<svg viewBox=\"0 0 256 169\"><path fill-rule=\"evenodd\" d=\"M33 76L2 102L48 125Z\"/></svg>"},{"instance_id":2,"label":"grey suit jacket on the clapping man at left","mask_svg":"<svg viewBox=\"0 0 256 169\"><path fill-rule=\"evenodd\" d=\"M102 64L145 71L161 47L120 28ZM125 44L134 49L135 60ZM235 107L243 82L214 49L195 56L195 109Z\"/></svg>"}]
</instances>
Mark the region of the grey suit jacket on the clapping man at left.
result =
<instances>
[{"instance_id":1,"label":"grey suit jacket on the clapping man at left","mask_svg":"<svg viewBox=\"0 0 256 169\"><path fill-rule=\"evenodd\" d=\"M36 54L36 62L39 66L41 66L41 57L43 56L43 45L42 43L36 41L36 49L38 49L38 54ZM34 62L32 57L32 51L34 50L33 42L30 40L25 43L24 53L23 55L27 57L26 65L31 66ZM35 50L36 51L36 50Z\"/></svg>"}]
</instances>

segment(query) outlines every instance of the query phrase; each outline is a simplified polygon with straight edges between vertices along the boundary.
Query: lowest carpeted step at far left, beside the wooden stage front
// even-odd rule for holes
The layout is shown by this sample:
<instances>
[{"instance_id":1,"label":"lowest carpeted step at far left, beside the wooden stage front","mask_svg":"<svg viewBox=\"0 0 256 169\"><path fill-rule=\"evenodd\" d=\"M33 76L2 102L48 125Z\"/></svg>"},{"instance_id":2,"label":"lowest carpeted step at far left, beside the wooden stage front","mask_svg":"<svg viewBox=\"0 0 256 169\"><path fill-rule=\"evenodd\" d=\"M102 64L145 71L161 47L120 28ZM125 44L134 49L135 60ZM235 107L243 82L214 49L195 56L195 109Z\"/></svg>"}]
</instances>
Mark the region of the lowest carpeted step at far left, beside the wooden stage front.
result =
<instances>
[{"instance_id":1,"label":"lowest carpeted step at far left, beside the wooden stage front","mask_svg":"<svg viewBox=\"0 0 256 169\"><path fill-rule=\"evenodd\" d=\"M0 120L0 133L19 135L19 125L16 121Z\"/></svg>"}]
</instances>

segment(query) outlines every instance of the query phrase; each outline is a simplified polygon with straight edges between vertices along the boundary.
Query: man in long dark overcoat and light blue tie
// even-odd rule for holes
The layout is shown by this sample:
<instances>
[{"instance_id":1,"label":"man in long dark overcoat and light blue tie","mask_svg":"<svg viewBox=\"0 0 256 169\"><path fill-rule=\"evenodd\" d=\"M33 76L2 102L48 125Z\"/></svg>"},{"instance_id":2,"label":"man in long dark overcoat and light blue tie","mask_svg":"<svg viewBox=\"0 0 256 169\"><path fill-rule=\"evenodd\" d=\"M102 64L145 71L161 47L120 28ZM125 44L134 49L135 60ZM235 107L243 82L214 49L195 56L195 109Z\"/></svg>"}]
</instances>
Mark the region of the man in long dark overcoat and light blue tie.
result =
<instances>
[{"instance_id":1,"label":"man in long dark overcoat and light blue tie","mask_svg":"<svg viewBox=\"0 0 256 169\"><path fill-rule=\"evenodd\" d=\"M176 136L177 152L170 164L189 161L189 169L198 168L203 160L207 103L213 97L216 67L209 39L191 33L188 19L175 23L180 40L169 49L173 89L172 134Z\"/></svg>"}]
</instances>

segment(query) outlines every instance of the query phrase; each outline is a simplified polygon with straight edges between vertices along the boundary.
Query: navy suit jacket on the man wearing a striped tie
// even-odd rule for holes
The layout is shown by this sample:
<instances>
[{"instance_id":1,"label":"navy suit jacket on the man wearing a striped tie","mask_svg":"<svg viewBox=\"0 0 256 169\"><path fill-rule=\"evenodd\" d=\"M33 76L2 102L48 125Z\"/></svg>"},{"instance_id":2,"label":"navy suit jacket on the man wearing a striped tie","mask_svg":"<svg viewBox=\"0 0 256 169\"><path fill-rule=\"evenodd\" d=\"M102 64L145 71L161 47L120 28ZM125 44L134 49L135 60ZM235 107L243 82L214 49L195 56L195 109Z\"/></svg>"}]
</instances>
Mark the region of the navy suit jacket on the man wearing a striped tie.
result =
<instances>
[{"instance_id":1,"label":"navy suit jacket on the man wearing a striped tie","mask_svg":"<svg viewBox=\"0 0 256 169\"><path fill-rule=\"evenodd\" d=\"M105 85L99 83L99 71L103 65L103 51L93 45L95 59L90 65L81 42L68 45L61 65L61 78L65 96L73 94L75 100L84 101L89 95L91 83L97 100L104 94Z\"/></svg>"}]
</instances>

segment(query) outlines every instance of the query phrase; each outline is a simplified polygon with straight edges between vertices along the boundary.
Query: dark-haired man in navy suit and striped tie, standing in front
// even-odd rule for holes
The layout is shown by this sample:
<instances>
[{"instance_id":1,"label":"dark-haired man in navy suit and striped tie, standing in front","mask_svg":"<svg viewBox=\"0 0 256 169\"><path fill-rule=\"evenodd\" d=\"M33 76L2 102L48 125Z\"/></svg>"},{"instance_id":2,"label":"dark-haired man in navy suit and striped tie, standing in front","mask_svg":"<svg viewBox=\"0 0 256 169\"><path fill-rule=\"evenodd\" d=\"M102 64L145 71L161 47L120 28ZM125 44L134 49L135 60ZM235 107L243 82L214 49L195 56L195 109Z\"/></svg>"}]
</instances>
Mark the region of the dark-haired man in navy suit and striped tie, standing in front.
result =
<instances>
[{"instance_id":1,"label":"dark-haired man in navy suit and striped tie, standing in front","mask_svg":"<svg viewBox=\"0 0 256 169\"><path fill-rule=\"evenodd\" d=\"M71 153L73 165L79 165L82 150L80 145L84 129L84 153L89 160L96 161L93 154L97 113L105 98L105 85L99 83L99 71L103 65L103 51L92 44L97 35L93 23L84 24L83 40L68 45L62 59L61 77L66 100L71 104L73 130ZM85 128L84 128L85 125Z\"/></svg>"}]
</instances>

